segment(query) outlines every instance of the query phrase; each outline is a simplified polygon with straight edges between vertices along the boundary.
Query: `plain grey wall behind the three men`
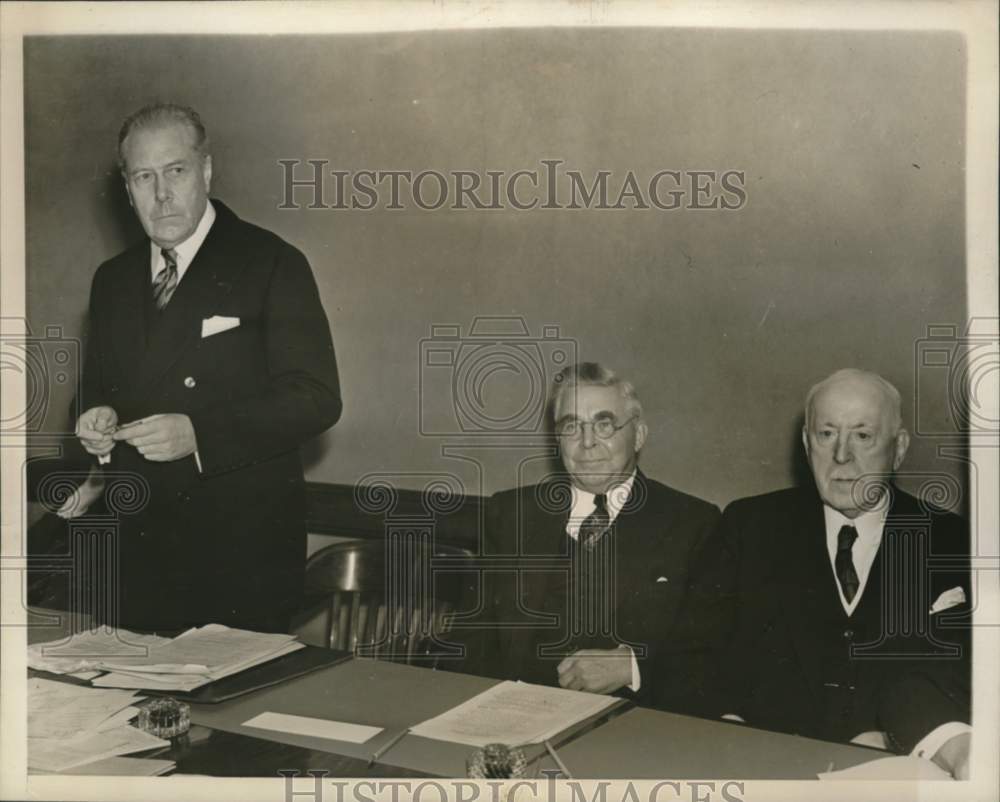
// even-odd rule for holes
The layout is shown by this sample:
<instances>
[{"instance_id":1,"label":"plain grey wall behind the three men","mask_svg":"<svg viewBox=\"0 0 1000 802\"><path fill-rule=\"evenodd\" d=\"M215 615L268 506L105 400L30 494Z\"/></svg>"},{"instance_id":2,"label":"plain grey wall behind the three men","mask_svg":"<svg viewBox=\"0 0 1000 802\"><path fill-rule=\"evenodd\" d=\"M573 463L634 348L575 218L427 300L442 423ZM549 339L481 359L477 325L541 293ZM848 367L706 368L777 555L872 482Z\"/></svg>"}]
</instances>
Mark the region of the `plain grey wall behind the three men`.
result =
<instances>
[{"instance_id":1,"label":"plain grey wall behind the three men","mask_svg":"<svg viewBox=\"0 0 1000 802\"><path fill-rule=\"evenodd\" d=\"M115 166L121 120L154 100L193 106L213 141L213 196L306 253L330 317L345 411L305 449L313 480L421 488L450 474L479 493L537 478L537 437L420 431L421 404L454 417L450 384L422 367L432 326L512 316L632 378L651 430L645 470L724 504L801 476L802 398L837 368L885 375L912 423L917 342L965 319L957 35L46 37L25 41L24 77L33 332L80 336L97 265L141 236ZM614 187L629 170L734 169L748 200L729 212L282 211L282 158L484 176L556 158L610 170ZM499 372L481 389L491 410L514 412L539 388ZM67 427L71 395L51 387L49 430ZM949 415L943 391L924 399L925 423L947 429ZM915 437L907 468L964 487L936 443Z\"/></svg>"}]
</instances>

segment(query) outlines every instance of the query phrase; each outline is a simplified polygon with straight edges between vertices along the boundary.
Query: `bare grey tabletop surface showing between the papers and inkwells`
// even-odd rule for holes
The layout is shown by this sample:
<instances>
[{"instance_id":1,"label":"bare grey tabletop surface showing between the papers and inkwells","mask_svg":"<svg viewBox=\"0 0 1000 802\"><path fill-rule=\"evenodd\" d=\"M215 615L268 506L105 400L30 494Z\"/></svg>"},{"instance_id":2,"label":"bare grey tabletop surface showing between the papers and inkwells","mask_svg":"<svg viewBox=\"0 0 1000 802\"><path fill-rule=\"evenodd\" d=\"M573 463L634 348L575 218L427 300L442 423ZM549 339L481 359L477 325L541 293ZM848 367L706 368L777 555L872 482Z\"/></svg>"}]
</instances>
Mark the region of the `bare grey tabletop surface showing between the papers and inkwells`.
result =
<instances>
[{"instance_id":1,"label":"bare grey tabletop surface showing between the papers and inkwells","mask_svg":"<svg viewBox=\"0 0 1000 802\"><path fill-rule=\"evenodd\" d=\"M59 632L42 627L32 642ZM174 760L176 773L274 777L325 770L333 777L463 777L473 747L407 735L377 763L371 754L406 728L436 716L496 680L377 660L354 659L214 705L192 705L191 731L143 757ZM280 712L368 724L383 731L363 744L243 726ZM576 779L815 779L885 756L864 747L756 730L740 724L618 708L554 740ZM540 746L525 747L532 774L554 770Z\"/></svg>"}]
</instances>

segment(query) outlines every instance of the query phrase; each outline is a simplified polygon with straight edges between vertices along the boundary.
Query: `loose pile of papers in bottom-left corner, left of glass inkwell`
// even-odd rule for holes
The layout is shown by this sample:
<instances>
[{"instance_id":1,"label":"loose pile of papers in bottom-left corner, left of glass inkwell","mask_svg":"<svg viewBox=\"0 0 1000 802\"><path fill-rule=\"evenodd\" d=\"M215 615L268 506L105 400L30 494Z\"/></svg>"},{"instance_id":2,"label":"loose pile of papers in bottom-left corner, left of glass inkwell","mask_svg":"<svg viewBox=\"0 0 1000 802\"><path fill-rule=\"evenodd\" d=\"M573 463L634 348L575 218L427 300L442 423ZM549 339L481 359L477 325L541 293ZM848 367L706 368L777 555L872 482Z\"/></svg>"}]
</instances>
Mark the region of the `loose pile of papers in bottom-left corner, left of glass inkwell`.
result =
<instances>
[{"instance_id":1,"label":"loose pile of papers in bottom-left corner, left of glass inkwell","mask_svg":"<svg viewBox=\"0 0 1000 802\"><path fill-rule=\"evenodd\" d=\"M97 690L33 677L28 680L28 767L65 771L169 741L129 726L139 709L131 691Z\"/></svg>"}]
</instances>

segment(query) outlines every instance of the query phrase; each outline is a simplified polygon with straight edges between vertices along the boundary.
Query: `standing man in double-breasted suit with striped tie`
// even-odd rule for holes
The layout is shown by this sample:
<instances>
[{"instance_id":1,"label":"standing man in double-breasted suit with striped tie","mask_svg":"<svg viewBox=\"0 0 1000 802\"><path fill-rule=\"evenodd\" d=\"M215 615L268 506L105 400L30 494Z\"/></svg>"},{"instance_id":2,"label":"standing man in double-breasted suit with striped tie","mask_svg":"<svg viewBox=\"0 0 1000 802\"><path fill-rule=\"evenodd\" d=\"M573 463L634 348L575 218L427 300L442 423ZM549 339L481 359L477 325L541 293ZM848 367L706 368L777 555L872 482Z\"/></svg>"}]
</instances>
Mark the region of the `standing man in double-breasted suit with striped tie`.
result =
<instances>
[{"instance_id":1,"label":"standing man in double-breasted suit with striped tie","mask_svg":"<svg viewBox=\"0 0 1000 802\"><path fill-rule=\"evenodd\" d=\"M118 152L149 239L94 276L77 433L146 496L120 516L119 623L283 629L305 563L298 449L341 411L315 280L208 199L193 110L141 109Z\"/></svg>"}]
</instances>

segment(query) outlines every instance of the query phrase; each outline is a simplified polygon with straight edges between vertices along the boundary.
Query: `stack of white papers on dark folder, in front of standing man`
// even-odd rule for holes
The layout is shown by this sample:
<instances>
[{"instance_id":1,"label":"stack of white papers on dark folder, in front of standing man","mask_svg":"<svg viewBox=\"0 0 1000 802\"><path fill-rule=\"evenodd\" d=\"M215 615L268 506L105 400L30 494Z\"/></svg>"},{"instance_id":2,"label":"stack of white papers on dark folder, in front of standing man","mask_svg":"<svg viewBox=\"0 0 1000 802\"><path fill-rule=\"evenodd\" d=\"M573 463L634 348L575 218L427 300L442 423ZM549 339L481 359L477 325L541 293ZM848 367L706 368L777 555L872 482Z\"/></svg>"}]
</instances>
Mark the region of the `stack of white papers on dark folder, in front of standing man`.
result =
<instances>
[{"instance_id":1,"label":"stack of white papers on dark folder, in front of standing man","mask_svg":"<svg viewBox=\"0 0 1000 802\"><path fill-rule=\"evenodd\" d=\"M294 635L208 624L151 646L144 658L98 661L96 667L111 673L93 684L101 688L192 691L304 646Z\"/></svg>"}]
</instances>

